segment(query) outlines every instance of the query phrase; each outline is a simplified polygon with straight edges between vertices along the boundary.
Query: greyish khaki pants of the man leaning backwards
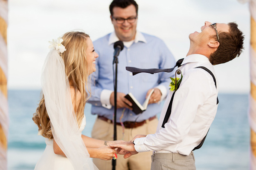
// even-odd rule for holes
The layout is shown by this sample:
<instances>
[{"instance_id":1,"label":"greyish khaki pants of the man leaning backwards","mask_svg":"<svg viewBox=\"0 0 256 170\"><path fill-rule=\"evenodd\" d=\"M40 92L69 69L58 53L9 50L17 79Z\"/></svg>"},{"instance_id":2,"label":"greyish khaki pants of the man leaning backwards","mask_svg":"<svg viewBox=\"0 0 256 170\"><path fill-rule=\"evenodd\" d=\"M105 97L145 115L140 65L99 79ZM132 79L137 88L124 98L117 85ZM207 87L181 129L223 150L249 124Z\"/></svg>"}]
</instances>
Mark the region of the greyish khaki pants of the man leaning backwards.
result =
<instances>
[{"instance_id":1,"label":"greyish khaki pants of the man leaning backwards","mask_svg":"<svg viewBox=\"0 0 256 170\"><path fill-rule=\"evenodd\" d=\"M196 170L194 153L188 156L179 153L155 153L151 170Z\"/></svg>"}]
</instances>

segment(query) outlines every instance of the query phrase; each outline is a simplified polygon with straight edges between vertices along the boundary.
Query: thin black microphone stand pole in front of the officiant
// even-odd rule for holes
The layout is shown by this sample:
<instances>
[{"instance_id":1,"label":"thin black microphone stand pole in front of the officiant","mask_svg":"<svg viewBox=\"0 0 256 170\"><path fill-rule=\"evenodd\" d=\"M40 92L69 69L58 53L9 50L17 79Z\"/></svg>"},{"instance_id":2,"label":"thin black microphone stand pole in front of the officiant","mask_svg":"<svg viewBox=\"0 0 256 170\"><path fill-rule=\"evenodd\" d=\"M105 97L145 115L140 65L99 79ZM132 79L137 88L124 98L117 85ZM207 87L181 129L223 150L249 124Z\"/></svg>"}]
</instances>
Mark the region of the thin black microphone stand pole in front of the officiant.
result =
<instances>
[{"instance_id":1,"label":"thin black microphone stand pole in front of the officiant","mask_svg":"<svg viewBox=\"0 0 256 170\"><path fill-rule=\"evenodd\" d=\"M117 98L117 65L118 65L118 58L117 56L114 56L113 59L113 64L116 64L116 72L114 76L114 141L116 140L116 111L117 111L117 106L116 106L116 98ZM112 159L112 170L116 170L116 160Z\"/></svg>"}]
</instances>

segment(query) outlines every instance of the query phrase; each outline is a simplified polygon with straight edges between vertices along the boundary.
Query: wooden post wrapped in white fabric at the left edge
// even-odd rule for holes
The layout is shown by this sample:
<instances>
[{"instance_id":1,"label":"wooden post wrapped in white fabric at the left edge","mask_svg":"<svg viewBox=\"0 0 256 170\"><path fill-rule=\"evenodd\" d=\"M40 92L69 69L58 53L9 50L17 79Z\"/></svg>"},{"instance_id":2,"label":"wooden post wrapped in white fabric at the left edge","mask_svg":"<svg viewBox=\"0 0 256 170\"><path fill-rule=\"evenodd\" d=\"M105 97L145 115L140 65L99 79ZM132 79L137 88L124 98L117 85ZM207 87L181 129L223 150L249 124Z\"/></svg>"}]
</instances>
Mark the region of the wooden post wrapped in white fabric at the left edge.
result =
<instances>
[{"instance_id":1,"label":"wooden post wrapped in white fabric at the left edge","mask_svg":"<svg viewBox=\"0 0 256 170\"><path fill-rule=\"evenodd\" d=\"M0 3L3 4L0 6L0 10L6 12L7 16L7 0L0 0ZM2 7L2 8L1 8ZM6 51L7 51L7 23L6 23L7 17L3 18L0 16L0 36L1 41L4 41L3 44L6 44ZM1 54L7 55L7 52L0 51ZM7 59L7 56L1 55L0 58L3 60ZM2 61L3 61L2 60ZM0 97L7 101L7 62L1 63L6 66L4 69L0 66ZM3 101L3 100L2 100ZM1 102L0 103L0 115L2 118L6 120L0 121L0 170L7 170L7 133L8 133L8 111L7 102ZM2 122L2 123L1 123ZM4 125L3 125L4 122Z\"/></svg>"}]
</instances>

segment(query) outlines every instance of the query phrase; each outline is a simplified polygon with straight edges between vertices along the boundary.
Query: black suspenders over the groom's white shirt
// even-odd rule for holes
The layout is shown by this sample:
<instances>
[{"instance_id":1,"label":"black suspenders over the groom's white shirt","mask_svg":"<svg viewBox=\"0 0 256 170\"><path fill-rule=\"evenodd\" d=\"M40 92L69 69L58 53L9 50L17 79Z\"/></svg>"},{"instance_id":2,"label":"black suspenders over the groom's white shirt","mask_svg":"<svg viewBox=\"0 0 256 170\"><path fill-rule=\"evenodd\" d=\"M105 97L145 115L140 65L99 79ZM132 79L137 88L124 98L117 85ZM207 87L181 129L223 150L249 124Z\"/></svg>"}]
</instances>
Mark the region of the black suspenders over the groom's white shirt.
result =
<instances>
[{"instance_id":1,"label":"black suspenders over the groom's white shirt","mask_svg":"<svg viewBox=\"0 0 256 170\"><path fill-rule=\"evenodd\" d=\"M205 71L207 71L207 72L212 76L213 81L214 81L214 83L215 83L215 87L217 88L216 79L215 79L214 75L212 74L212 72L209 71L208 68L203 67L203 66L199 66L199 67L196 67L196 68L202 68L202 69L204 69ZM178 86L178 88L179 88L179 86ZM175 92L176 92L176 91L175 91ZM166 115L165 115L165 117L164 117L164 119L163 119L163 124L162 124L162 127L163 127L163 128L164 128L164 125L167 123L167 121L168 121L168 119L169 119L169 117L170 117L170 115L171 115L171 111L172 111L172 102L173 102L173 98L174 98L175 92L172 94L172 98L171 98L171 101L170 101L169 106L168 106L168 108L167 108ZM218 97L217 97L217 105L218 105ZM208 132L209 132L209 130L208 130ZM208 134L208 132L207 132L207 134ZM193 150L199 149L199 148L203 145L204 140L205 140L207 134L204 136L204 139L201 141L201 143L200 143L197 147L195 147Z\"/></svg>"}]
</instances>

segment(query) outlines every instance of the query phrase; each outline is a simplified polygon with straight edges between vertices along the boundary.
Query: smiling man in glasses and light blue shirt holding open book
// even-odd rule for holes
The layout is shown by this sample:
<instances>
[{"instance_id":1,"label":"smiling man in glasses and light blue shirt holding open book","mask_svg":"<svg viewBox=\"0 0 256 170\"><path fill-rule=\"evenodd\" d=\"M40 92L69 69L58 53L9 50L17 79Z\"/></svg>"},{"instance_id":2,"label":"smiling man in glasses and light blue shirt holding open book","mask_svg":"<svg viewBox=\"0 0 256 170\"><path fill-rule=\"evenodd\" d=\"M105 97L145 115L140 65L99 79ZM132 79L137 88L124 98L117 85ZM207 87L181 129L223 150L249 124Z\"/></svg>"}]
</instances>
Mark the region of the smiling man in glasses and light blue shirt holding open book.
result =
<instances>
[{"instance_id":1,"label":"smiling man in glasses and light blue shirt holding open book","mask_svg":"<svg viewBox=\"0 0 256 170\"><path fill-rule=\"evenodd\" d=\"M96 84L91 85L92 97L88 101L92 104L91 113L98 115L92 137L113 140L113 44L121 40L124 49L118 57L117 140L130 141L136 134L155 132L158 123L156 114L162 109L159 103L166 98L169 77L173 74L141 74L133 77L125 67L169 68L175 65L175 59L162 40L137 30L138 5L134 0L113 0L109 9L114 31L93 42L99 57L93 74ZM136 115L132 111L131 102L124 96L131 93L142 104L153 88L154 93L146 111ZM111 161L94 159L93 162L100 170L110 170L112 167ZM141 153L131 159L120 156L116 160L116 169L150 170L150 164L151 153Z\"/></svg>"}]
</instances>

